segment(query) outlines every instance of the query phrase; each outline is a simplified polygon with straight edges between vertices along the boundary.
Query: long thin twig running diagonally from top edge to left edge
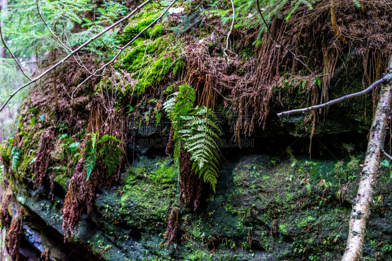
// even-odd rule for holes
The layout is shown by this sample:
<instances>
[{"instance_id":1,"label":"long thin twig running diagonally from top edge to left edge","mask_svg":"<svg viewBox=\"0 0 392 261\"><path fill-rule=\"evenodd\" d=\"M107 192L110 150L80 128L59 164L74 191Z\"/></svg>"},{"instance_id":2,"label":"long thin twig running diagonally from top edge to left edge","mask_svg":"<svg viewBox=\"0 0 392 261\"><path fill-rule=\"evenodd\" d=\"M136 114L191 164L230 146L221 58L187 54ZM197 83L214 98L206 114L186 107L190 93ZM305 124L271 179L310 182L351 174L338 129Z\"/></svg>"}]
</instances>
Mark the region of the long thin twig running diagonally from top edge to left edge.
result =
<instances>
[{"instance_id":1,"label":"long thin twig running diagonally from top edge to left edge","mask_svg":"<svg viewBox=\"0 0 392 261\"><path fill-rule=\"evenodd\" d=\"M0 112L4 109L4 107L7 105L7 103L11 100L11 98L13 96L15 96L18 92L20 92L22 89L24 89L25 87L29 86L30 84L38 81L39 79L41 79L42 77L44 77L45 75L47 75L50 71L52 71L53 69L57 68L59 65L63 64L65 61L67 61L71 56L73 56L75 53L79 52L82 48L86 47L88 44L90 44L91 42L93 42L94 40L96 40L99 36L101 36L102 34L106 33L107 31L109 31L110 29L114 28L115 26L117 26L118 24L121 24L122 22L124 22L125 20L127 20L129 17L131 17L133 14L135 14L136 12L138 12L143 6L145 6L147 3L149 3L152 0L146 0L145 2L143 2L142 4L140 4L138 7L136 7L131 13L129 13L127 16L123 17L122 19L120 19L119 21L117 21L116 23L106 27L104 30L102 30L100 33L96 34L95 36L93 36L92 38L90 38L89 40L87 40L86 42L84 42L82 45L80 45L79 47L77 47L75 50L73 50L71 53L69 53L66 57L64 57L63 59L61 59L59 62L57 62L56 64L54 64L53 66L51 66L48 70L44 71L43 73L41 73L40 75L38 75L37 77L35 77L34 79L30 80L29 82L25 83L24 85L22 85L21 87L19 87L14 93L10 94L8 99L3 103L3 105L0 108Z\"/></svg>"}]
</instances>

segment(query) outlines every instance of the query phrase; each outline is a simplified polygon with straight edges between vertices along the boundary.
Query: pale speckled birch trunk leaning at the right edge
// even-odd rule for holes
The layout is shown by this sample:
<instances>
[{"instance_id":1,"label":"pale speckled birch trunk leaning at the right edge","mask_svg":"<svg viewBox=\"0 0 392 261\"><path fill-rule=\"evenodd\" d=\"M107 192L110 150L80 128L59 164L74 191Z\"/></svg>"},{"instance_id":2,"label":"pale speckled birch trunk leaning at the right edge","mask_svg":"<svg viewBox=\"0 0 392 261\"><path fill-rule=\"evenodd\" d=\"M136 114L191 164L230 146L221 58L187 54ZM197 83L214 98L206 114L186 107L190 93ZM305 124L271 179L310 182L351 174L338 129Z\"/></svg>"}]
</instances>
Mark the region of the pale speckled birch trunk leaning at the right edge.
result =
<instances>
[{"instance_id":1,"label":"pale speckled birch trunk leaning at the right edge","mask_svg":"<svg viewBox=\"0 0 392 261\"><path fill-rule=\"evenodd\" d=\"M387 73L391 72L392 56L387 69ZM361 171L361 181L349 217L347 245L342 261L359 261L362 257L366 222L369 207L373 201L373 186L380 166L380 158L383 154L385 131L391 111L391 87L391 82L387 81L380 88L380 97L370 129L364 168Z\"/></svg>"}]
</instances>

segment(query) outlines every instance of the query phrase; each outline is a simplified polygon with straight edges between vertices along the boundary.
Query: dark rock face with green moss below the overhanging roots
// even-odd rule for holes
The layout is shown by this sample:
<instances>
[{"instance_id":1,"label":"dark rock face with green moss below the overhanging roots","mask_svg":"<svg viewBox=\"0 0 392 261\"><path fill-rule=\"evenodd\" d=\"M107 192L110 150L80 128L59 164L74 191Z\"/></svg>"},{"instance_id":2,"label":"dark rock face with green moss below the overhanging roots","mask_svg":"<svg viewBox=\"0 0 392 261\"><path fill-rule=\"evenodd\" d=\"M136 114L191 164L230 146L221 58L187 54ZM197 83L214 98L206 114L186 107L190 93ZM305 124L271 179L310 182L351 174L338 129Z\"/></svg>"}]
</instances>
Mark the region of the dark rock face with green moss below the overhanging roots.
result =
<instances>
[{"instance_id":1,"label":"dark rock face with green moss below the overhanging roots","mask_svg":"<svg viewBox=\"0 0 392 261\"><path fill-rule=\"evenodd\" d=\"M168 122L164 119L159 128L130 122L121 179L99 186L92 212L83 212L75 236L65 242L61 209L73 173L65 159L70 159L70 144L83 134L75 136L72 126L50 119L45 107L31 108L31 99L12 141L19 142L21 163L16 170L7 168L2 202L2 215L9 214L9 221L18 211L23 214L22 260L38 260L42 253L49 260L340 259L366 145L368 120L356 119L363 106L331 108L325 121L317 123L312 157L302 116L283 123L271 117L266 130L256 129L247 138L246 147L222 147L217 190L205 190L196 212L179 204L172 158L159 146L168 137ZM83 108L83 103L74 106ZM342 111L347 118L339 117ZM46 119L31 124L32 117L45 114ZM52 124L56 135L47 154L50 175L34 188L31 152L38 150L42 133ZM230 139L229 131L224 138ZM161 143L152 146L151 139ZM392 257L387 243L392 232L389 172L384 166L377 181L366 238L369 260ZM176 207L178 236L167 246L168 219Z\"/></svg>"}]
</instances>

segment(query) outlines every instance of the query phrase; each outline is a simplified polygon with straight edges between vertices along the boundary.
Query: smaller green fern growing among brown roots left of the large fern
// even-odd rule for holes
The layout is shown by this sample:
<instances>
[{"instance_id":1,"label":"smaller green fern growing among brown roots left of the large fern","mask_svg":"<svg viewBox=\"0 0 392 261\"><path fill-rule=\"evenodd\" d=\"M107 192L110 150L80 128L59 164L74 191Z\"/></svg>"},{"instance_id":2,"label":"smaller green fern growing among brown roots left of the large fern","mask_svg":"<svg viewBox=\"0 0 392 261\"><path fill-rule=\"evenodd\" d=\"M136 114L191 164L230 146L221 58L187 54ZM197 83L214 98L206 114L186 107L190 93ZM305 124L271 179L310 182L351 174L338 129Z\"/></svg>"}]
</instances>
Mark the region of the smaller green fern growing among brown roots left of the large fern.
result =
<instances>
[{"instance_id":1,"label":"smaller green fern growing among brown roots left of the large fern","mask_svg":"<svg viewBox=\"0 0 392 261\"><path fill-rule=\"evenodd\" d=\"M110 177L123 160L123 150L119 147L123 142L110 135L104 135L101 139L99 139L98 133L90 133L88 136L91 136L91 140L86 142L86 148L83 149L87 172L86 182L89 180L98 158L102 159L102 164L107 167L108 177ZM102 147L97 151L97 146L100 143L102 143Z\"/></svg>"}]
</instances>

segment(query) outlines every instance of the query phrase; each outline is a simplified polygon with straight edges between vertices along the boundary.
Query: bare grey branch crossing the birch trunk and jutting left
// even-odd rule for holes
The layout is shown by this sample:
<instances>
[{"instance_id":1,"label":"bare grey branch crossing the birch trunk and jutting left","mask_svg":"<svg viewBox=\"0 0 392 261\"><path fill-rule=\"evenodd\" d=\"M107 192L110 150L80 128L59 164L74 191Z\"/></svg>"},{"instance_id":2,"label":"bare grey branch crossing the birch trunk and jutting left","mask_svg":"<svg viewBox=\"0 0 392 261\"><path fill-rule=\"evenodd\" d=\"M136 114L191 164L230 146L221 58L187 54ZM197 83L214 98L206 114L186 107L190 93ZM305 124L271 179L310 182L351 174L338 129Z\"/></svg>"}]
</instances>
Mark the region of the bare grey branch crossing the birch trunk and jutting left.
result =
<instances>
[{"instance_id":1,"label":"bare grey branch crossing the birch trunk and jutting left","mask_svg":"<svg viewBox=\"0 0 392 261\"><path fill-rule=\"evenodd\" d=\"M349 94L349 95L344 95L343 97L340 97L340 98L337 98L337 99L334 99L334 100L330 100L328 102L325 102L325 103L322 103L322 104L319 104L319 105L314 105L314 106L310 106L310 107L303 108L303 109L295 109L295 110L291 110L291 111L281 112L281 113L278 113L277 115L278 115L278 117L282 117L284 115L290 115L290 114L296 114L296 113L305 113L305 112L308 112L308 111L314 111L314 110L317 110L317 109L325 108L325 107L331 106L331 105L333 105L335 103L342 102L342 101L344 101L346 99L351 99L351 98L354 98L354 97L359 97L359 96L365 95L368 92L370 92L371 90L373 90L374 87L376 87L376 86L378 86L378 85L380 85L380 84L382 84L384 82L391 81L391 80L392 80L392 71L388 71L387 74L384 75L384 77L382 77L381 79L373 82L372 84L370 84L370 86L368 88L366 88L365 90L363 90L361 92L353 93L353 94Z\"/></svg>"}]
</instances>

